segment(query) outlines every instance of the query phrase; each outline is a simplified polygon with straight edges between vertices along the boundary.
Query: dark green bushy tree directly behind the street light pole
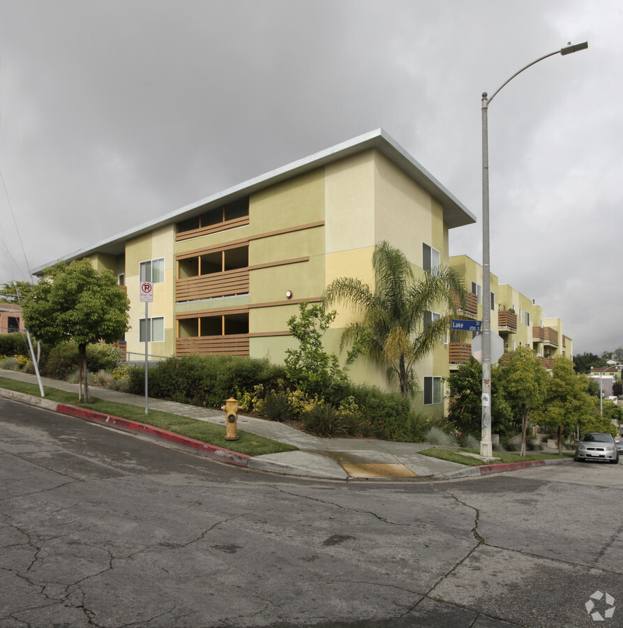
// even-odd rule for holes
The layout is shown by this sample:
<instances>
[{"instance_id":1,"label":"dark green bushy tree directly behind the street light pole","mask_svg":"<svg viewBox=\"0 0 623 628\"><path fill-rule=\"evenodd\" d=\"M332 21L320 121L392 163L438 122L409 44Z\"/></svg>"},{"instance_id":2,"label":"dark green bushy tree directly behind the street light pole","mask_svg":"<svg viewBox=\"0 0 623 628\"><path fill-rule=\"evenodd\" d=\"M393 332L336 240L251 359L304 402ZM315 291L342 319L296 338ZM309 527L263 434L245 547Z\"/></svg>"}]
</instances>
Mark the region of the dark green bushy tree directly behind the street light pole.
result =
<instances>
[{"instance_id":1,"label":"dark green bushy tree directly behind the street light pole","mask_svg":"<svg viewBox=\"0 0 623 628\"><path fill-rule=\"evenodd\" d=\"M511 408L500 387L500 368L491 369L491 427L504 434L511 421ZM451 403L448 418L461 433L480 439L482 435L482 365L470 357L448 377Z\"/></svg>"}]
</instances>

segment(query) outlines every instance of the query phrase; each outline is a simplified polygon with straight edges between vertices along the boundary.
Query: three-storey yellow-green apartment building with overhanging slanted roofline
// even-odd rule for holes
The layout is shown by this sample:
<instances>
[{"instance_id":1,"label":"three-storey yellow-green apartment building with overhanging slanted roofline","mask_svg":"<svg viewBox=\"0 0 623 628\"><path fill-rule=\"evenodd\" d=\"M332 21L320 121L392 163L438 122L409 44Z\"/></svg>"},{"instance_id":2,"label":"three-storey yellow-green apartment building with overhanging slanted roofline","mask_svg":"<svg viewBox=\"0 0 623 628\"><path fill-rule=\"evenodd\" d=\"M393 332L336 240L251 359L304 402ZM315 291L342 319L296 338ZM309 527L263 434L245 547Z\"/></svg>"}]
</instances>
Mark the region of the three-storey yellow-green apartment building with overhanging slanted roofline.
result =
<instances>
[{"instance_id":1,"label":"three-storey yellow-green apartment building with overhanging slanted roofline","mask_svg":"<svg viewBox=\"0 0 623 628\"><path fill-rule=\"evenodd\" d=\"M449 230L474 222L449 190L375 130L61 260L87 257L117 274L130 297L130 359L140 360L147 339L154 356L237 354L280 363L294 347L287 320L302 301L320 301L342 276L373 285L377 242L403 251L421 276L449 263ZM478 276L476 267L471 262L470 276ZM153 284L147 320L144 282ZM481 308L482 295L474 298ZM472 317L481 311L474 302L466 307ZM340 355L341 331L353 317L338 311L328 352ZM433 412L444 410L449 340L416 367ZM349 375L386 388L384 372L365 358Z\"/></svg>"}]
</instances>

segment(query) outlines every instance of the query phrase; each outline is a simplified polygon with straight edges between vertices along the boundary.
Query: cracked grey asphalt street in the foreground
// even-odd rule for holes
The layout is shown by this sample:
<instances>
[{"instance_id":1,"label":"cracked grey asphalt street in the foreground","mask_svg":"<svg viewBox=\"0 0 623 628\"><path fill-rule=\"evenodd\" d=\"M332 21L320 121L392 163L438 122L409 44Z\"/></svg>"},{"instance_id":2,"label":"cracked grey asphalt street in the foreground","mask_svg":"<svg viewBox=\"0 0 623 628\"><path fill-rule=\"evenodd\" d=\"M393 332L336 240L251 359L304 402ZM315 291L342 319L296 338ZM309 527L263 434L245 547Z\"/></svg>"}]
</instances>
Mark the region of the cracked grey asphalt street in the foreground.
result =
<instances>
[{"instance_id":1,"label":"cracked grey asphalt street in the foreground","mask_svg":"<svg viewBox=\"0 0 623 628\"><path fill-rule=\"evenodd\" d=\"M0 626L618 627L622 488L278 477L2 399Z\"/></svg>"}]
</instances>

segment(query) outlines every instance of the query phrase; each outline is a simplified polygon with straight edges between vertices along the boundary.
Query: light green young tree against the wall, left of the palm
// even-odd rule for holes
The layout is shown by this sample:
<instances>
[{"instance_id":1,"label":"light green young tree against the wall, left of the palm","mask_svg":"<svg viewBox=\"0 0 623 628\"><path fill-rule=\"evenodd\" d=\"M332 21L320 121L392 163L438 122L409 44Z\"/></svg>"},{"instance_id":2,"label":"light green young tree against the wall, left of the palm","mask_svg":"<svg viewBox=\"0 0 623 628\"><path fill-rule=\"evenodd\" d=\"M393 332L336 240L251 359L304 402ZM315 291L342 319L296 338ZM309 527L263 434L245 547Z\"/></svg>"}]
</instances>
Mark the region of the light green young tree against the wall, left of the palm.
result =
<instances>
[{"instance_id":1,"label":"light green young tree against the wall, left of the palm","mask_svg":"<svg viewBox=\"0 0 623 628\"><path fill-rule=\"evenodd\" d=\"M299 304L299 317L292 316L287 326L299 341L297 349L288 349L285 357L287 377L310 395L326 397L331 389L341 389L347 382L336 354L327 354L323 347L324 333L336 317L326 313L322 305Z\"/></svg>"}]
</instances>

